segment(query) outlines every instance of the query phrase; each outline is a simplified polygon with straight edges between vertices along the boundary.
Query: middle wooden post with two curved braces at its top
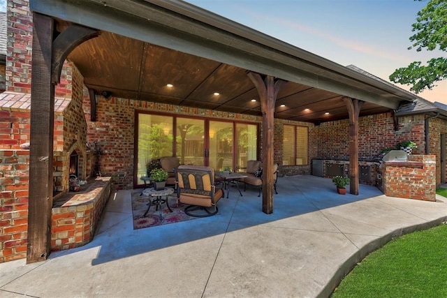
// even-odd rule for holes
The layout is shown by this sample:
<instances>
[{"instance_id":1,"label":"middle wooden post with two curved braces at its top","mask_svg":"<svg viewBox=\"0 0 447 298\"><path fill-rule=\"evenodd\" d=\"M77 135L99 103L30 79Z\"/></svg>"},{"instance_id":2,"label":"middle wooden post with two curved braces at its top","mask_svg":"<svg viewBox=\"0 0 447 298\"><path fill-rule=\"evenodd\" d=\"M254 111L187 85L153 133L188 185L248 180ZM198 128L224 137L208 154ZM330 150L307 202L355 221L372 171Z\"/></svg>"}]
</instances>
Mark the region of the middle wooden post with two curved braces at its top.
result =
<instances>
[{"instance_id":1,"label":"middle wooden post with two curved braces at its top","mask_svg":"<svg viewBox=\"0 0 447 298\"><path fill-rule=\"evenodd\" d=\"M263 212L273 213L273 144L274 104L283 80L274 80L268 75L265 80L258 73L247 73L258 90L263 113Z\"/></svg>"}]
</instances>

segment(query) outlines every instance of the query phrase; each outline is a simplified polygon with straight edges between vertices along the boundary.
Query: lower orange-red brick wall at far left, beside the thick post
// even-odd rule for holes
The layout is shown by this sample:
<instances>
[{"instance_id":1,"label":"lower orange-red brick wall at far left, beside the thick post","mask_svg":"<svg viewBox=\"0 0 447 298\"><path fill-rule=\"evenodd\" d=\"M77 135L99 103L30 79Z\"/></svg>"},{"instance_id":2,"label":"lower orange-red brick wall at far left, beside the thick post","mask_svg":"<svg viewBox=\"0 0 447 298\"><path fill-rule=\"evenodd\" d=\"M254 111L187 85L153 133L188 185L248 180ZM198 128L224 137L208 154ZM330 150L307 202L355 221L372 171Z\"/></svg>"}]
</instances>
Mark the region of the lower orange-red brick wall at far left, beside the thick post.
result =
<instances>
[{"instance_id":1,"label":"lower orange-red brick wall at far left, beside the thick post","mask_svg":"<svg viewBox=\"0 0 447 298\"><path fill-rule=\"evenodd\" d=\"M29 151L0 150L0 262L27 255Z\"/></svg>"}]
</instances>

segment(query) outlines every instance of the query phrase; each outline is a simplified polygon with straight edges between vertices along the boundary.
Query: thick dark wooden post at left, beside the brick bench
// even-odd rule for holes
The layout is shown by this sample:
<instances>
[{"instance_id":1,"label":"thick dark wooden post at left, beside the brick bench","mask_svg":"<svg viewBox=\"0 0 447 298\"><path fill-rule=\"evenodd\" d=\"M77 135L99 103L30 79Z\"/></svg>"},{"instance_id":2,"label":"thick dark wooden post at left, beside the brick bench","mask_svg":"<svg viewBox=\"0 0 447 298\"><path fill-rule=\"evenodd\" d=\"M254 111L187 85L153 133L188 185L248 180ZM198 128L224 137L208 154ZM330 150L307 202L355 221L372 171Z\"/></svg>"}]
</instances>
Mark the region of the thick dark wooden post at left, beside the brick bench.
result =
<instances>
[{"instance_id":1,"label":"thick dark wooden post at left, beside the brick bench","mask_svg":"<svg viewBox=\"0 0 447 298\"><path fill-rule=\"evenodd\" d=\"M27 263L46 260L51 244L54 85L51 84L53 20L33 14L31 137Z\"/></svg>"}]
</instances>

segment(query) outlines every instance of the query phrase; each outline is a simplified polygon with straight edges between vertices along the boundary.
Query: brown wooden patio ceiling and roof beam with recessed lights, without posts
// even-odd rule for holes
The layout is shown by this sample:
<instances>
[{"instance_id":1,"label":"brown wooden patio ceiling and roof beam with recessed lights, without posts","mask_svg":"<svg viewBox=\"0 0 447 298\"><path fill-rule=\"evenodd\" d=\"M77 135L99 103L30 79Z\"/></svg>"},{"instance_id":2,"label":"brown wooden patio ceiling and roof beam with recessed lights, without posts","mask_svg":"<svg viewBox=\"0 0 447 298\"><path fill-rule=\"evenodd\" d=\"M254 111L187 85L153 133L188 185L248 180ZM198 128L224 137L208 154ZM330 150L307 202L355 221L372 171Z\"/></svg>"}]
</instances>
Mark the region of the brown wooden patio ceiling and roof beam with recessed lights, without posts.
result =
<instances>
[{"instance_id":1,"label":"brown wooden patio ceiling and roof beam with recessed lights, without posts","mask_svg":"<svg viewBox=\"0 0 447 298\"><path fill-rule=\"evenodd\" d=\"M245 74L251 70L288 81L279 92L275 117L312 122L347 118L342 96L366 101L362 114L386 112L408 99L408 94L386 84L221 17L198 17L194 12L196 19L191 20L191 15L179 14L180 10L185 13L182 8L170 11L154 6L168 3L165 1L108 1L101 7L94 2L30 3L41 13L63 17L57 19L60 23L76 22L102 30L100 37L80 45L69 56L87 86L96 91L261 115L259 101L250 101L258 99ZM210 24L214 19L226 22ZM172 22L161 24L166 20ZM175 87L168 89L168 83ZM220 95L212 96L215 91ZM286 106L280 107L282 103Z\"/></svg>"}]
</instances>

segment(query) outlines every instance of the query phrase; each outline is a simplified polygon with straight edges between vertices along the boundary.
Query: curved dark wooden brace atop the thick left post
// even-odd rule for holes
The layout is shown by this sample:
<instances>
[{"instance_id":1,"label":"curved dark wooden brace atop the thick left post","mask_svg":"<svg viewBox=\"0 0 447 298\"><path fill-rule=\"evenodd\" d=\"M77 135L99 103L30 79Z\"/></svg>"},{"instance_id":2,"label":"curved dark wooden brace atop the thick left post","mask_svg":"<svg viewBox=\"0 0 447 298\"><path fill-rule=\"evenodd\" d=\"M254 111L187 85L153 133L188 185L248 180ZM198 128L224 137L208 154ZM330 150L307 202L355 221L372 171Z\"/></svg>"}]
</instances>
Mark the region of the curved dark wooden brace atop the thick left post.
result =
<instances>
[{"instance_id":1,"label":"curved dark wooden brace atop the thick left post","mask_svg":"<svg viewBox=\"0 0 447 298\"><path fill-rule=\"evenodd\" d=\"M52 52L52 83L57 84L61 77L62 66L68 54L81 43L99 36L99 30L72 24L54 39Z\"/></svg>"}]
</instances>

